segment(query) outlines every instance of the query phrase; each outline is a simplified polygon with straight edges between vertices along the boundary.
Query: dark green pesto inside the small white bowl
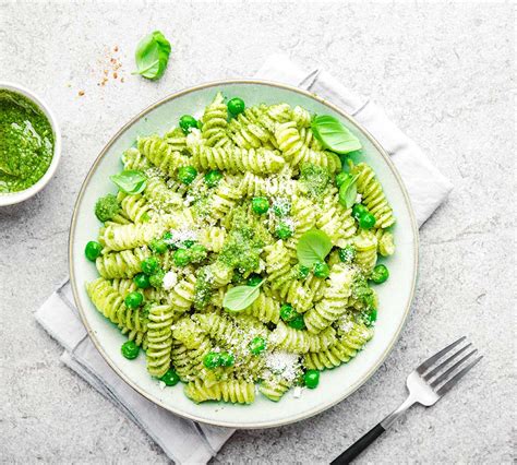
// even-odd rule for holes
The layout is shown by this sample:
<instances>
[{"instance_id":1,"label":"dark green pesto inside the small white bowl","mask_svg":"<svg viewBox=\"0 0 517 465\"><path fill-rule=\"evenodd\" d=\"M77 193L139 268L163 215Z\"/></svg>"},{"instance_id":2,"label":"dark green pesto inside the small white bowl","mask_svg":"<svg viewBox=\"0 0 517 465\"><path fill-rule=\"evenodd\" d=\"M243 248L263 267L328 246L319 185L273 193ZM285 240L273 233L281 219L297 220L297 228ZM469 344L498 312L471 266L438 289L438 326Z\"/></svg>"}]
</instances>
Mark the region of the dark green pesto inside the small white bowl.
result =
<instances>
[{"instance_id":1,"label":"dark green pesto inside the small white bowl","mask_svg":"<svg viewBox=\"0 0 517 465\"><path fill-rule=\"evenodd\" d=\"M0 91L0 193L35 184L52 160L52 127L21 94Z\"/></svg>"}]
</instances>

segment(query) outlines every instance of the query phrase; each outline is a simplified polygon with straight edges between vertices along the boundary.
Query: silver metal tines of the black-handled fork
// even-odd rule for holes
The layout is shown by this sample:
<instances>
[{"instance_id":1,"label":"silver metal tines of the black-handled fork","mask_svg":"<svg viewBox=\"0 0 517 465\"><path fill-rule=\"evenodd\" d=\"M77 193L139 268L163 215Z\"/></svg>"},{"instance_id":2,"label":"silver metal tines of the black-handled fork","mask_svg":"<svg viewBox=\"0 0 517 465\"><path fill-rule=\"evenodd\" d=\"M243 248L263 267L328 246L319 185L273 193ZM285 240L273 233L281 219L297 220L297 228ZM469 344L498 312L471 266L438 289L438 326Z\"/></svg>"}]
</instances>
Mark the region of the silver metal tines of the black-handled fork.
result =
<instances>
[{"instance_id":1,"label":"silver metal tines of the black-handled fork","mask_svg":"<svg viewBox=\"0 0 517 465\"><path fill-rule=\"evenodd\" d=\"M455 341L453 344L448 345L444 349L434 354L432 357L428 358L422 365L417 368L417 372L420 374L420 377L440 396L448 392L467 373L467 371L469 371L476 363L478 363L478 361L483 358L483 356L479 356L473 360L470 360L469 363L465 365L465 362L471 356L478 353L478 349L472 349L464 357L461 357L458 361L456 361L454 365L450 365L461 354L472 347L472 344L470 343L459 348L459 350L454 351L453 355L442 361L446 354L452 351L466 338L466 336L460 337L458 341ZM436 365L438 362L440 365Z\"/></svg>"}]
</instances>

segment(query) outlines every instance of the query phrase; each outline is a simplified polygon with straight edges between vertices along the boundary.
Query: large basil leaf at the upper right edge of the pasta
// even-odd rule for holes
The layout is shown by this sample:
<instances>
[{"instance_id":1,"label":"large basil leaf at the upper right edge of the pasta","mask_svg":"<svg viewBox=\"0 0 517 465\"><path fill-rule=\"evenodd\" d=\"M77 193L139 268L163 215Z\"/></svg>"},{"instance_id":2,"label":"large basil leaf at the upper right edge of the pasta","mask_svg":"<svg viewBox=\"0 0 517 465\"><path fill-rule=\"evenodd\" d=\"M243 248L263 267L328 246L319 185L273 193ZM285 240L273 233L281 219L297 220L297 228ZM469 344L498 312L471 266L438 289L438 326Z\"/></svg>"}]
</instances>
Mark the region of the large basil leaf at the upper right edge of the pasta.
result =
<instances>
[{"instance_id":1,"label":"large basil leaf at the upper right edge of the pasta","mask_svg":"<svg viewBox=\"0 0 517 465\"><path fill-rule=\"evenodd\" d=\"M337 154L347 154L361 148L359 139L332 116L316 116L311 122L311 128L322 145Z\"/></svg>"}]
</instances>

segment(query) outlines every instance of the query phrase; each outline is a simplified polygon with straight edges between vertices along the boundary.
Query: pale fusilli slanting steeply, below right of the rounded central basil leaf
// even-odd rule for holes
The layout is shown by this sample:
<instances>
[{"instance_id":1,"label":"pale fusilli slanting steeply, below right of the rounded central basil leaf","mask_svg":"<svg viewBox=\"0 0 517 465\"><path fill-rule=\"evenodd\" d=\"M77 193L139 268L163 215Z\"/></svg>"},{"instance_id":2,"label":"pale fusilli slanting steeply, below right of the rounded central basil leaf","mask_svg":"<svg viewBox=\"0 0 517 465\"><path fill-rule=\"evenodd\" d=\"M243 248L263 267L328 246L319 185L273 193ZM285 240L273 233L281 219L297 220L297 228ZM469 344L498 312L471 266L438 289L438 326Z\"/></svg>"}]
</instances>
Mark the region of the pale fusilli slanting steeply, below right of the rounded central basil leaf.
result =
<instances>
[{"instance_id":1,"label":"pale fusilli slanting steeply, below right of the rounded central basil leaf","mask_svg":"<svg viewBox=\"0 0 517 465\"><path fill-rule=\"evenodd\" d=\"M345 264L338 263L332 267L323 299L305 313L304 321L309 332L320 333L345 313L354 275Z\"/></svg>"}]
</instances>

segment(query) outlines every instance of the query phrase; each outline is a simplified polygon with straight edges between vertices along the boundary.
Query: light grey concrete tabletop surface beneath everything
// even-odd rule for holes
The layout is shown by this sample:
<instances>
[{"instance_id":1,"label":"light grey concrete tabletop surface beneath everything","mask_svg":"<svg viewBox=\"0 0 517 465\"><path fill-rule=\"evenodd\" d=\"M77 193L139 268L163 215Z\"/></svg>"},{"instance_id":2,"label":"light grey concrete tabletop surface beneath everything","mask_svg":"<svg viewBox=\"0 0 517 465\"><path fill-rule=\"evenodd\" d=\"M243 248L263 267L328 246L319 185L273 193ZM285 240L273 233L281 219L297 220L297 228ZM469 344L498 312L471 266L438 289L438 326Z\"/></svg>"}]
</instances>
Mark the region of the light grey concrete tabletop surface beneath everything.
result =
<instances>
[{"instance_id":1,"label":"light grey concrete tabletop surface beneath everything","mask_svg":"<svg viewBox=\"0 0 517 465\"><path fill-rule=\"evenodd\" d=\"M0 208L0 461L165 463L145 432L60 365L33 311L67 276L81 182L111 134L166 94L249 76L281 50L371 93L455 184L421 230L420 279L400 342L348 400L298 425L241 431L215 462L324 463L405 395L406 373L466 334L485 358L432 409L414 408L358 463L510 463L515 115L510 3L81 5L0 2L0 80L56 110L63 157L48 188ZM130 74L144 34L172 44L159 82ZM98 86L110 53L124 83ZM79 92L84 91L84 96Z\"/></svg>"}]
</instances>

